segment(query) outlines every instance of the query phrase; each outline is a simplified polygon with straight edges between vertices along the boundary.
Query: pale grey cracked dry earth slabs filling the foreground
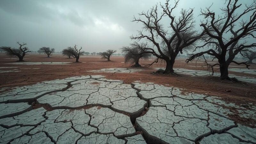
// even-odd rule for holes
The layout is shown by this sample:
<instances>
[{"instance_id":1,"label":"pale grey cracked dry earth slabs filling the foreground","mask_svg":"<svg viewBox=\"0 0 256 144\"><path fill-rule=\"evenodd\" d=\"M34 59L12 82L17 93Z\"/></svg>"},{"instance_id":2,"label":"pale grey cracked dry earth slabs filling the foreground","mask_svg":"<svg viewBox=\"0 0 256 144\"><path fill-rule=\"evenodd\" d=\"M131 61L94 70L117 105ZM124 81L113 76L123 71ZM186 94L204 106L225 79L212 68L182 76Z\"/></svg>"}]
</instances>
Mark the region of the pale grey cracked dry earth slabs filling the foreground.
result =
<instances>
[{"instance_id":1,"label":"pale grey cracked dry earth slabs filling the foreground","mask_svg":"<svg viewBox=\"0 0 256 144\"><path fill-rule=\"evenodd\" d=\"M256 143L255 123L232 120L255 106L177 87L91 75L0 92L0 143Z\"/></svg>"}]
</instances>

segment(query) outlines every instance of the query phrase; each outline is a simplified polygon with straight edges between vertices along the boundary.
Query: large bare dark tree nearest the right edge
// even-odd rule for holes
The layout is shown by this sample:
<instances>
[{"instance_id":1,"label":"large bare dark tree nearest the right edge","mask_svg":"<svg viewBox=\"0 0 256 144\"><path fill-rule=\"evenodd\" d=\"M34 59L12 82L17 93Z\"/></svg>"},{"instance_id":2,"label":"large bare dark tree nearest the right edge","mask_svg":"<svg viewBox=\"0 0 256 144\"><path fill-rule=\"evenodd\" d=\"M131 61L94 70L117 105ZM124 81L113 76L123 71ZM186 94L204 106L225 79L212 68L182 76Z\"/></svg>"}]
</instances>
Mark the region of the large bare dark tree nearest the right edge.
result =
<instances>
[{"instance_id":1,"label":"large bare dark tree nearest the right edge","mask_svg":"<svg viewBox=\"0 0 256 144\"><path fill-rule=\"evenodd\" d=\"M241 1L245 2L245 1ZM202 21L201 27L207 33L207 38L204 39L204 45L196 48L210 47L209 50L192 54L186 60L192 61L198 57L203 57L204 54L211 55L214 59L218 59L218 63L209 64L207 60L205 63L208 68L212 69L214 66L220 67L220 79L228 79L238 82L236 78L228 77L228 66L230 63L238 65L244 64L247 68L250 66L246 62L234 61L235 56L242 52L251 51L256 46L256 43L249 43L246 39L254 39L256 30L256 2L252 4L244 4L245 9L242 12L237 11L242 4L237 4L238 0L227 0L226 8L221 8L221 16L216 16L214 12L210 11L210 7L201 10L201 15L204 16L205 22ZM248 20L244 21L243 18ZM209 29L211 28L211 30ZM252 40L253 42L253 40Z\"/></svg>"}]
</instances>

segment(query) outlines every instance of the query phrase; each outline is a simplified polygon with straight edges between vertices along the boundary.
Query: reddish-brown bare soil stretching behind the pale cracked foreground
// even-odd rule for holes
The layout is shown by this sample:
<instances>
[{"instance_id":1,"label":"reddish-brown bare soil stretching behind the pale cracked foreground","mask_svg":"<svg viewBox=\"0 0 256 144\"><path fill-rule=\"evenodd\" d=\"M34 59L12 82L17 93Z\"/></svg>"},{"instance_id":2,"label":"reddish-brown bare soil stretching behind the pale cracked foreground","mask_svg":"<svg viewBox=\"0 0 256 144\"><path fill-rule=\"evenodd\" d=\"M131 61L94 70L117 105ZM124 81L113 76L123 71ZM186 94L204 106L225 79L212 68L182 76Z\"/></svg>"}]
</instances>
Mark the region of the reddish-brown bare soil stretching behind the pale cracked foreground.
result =
<instances>
[{"instance_id":1,"label":"reddish-brown bare soil stretching behind the pale cracked foreground","mask_svg":"<svg viewBox=\"0 0 256 144\"><path fill-rule=\"evenodd\" d=\"M165 67L164 63L154 64L153 67L141 68L143 71L137 73L92 73L88 70L98 70L101 68L131 68L130 65L125 65L123 57L111 57L112 61L101 60L99 56L95 57L81 57L79 61L81 63L71 63L70 65L13 65L12 62L16 62L15 59L8 59L9 57L0 54L0 67L20 67L20 68L40 68L40 69L20 69L20 72L9 72L0 74L0 88L1 87L15 87L22 85L36 84L38 82L62 79L71 76L80 75L105 75L108 79L123 80L124 83L130 84L136 80L141 82L154 82L157 84L163 84L165 86L174 86L186 89L188 92L207 93L208 95L220 96L223 100L234 102L236 104L241 103L256 103L256 85L255 84L237 84L230 81L221 81L218 77L212 76L170 76L170 75L152 75L151 72L156 71L154 68ZM52 55L51 58L46 58L41 54L30 54L25 56L27 62L74 62L75 59L66 59L66 57L58 54ZM141 61L141 64L149 64L153 61ZM206 70L203 63L185 63L184 59L177 59L175 61L174 68L187 68L194 70ZM86 62L86 63L82 63ZM92 63L93 62L93 63ZM212 62L212 61L211 61ZM8 64L5 64L8 63ZM190 67L195 66L197 67ZM232 66L237 66L231 64ZM241 66L241 65L240 65ZM231 68L245 68L231 67ZM256 69L256 65L252 65L250 68ZM13 68L12 68L13 69ZM2 69L3 70L3 69ZM4 69L8 70L8 69ZM218 70L217 70L218 71ZM239 76L251 76L252 74L229 72ZM226 90L229 90L226 91Z\"/></svg>"}]
</instances>

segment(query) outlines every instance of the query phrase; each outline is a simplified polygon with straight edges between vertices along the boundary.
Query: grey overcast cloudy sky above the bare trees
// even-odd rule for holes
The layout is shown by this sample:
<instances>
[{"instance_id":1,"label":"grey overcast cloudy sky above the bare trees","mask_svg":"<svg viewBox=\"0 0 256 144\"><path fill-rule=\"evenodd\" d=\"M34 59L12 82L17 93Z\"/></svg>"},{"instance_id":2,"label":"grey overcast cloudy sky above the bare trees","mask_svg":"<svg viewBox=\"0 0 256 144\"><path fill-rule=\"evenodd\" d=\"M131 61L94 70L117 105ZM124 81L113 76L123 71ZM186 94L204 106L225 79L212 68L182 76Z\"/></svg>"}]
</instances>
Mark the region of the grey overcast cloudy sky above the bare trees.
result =
<instances>
[{"instance_id":1,"label":"grey overcast cloudy sky above the bare trees","mask_svg":"<svg viewBox=\"0 0 256 144\"><path fill-rule=\"evenodd\" d=\"M129 36L136 35L141 28L131 22L133 15L138 16L159 2L165 1L1 0L0 46L17 48L15 43L19 41L27 43L33 51L43 46L61 51L75 44L86 52L118 50L129 45ZM174 14L178 15L181 8L195 8L196 27L201 30L200 8L212 3L212 10L218 11L224 0L180 0Z\"/></svg>"}]
</instances>

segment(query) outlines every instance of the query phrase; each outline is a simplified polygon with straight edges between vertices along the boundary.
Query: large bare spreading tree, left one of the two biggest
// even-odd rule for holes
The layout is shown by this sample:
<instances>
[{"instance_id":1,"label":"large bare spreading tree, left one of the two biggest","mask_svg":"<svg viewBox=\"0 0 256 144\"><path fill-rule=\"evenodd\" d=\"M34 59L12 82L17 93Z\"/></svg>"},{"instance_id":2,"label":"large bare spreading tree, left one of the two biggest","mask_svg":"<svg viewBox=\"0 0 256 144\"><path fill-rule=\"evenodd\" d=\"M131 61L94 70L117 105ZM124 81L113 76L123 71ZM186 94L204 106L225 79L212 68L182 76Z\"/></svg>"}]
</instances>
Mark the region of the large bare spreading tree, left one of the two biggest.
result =
<instances>
[{"instance_id":1,"label":"large bare spreading tree, left one of the two biggest","mask_svg":"<svg viewBox=\"0 0 256 144\"><path fill-rule=\"evenodd\" d=\"M148 12L139 13L139 16L144 17L145 20L135 17L132 20L133 22L142 23L144 31L139 31L139 34L131 36L131 39L147 39L154 44L156 51L153 48L145 48L144 50L147 50L146 53L151 53L157 57L153 63L158 62L158 59L165 61L166 68L161 73L174 73L173 65L177 55L191 48L205 34L205 31L198 34L195 30L193 9L181 9L178 18L172 16L178 2L175 1L172 7L169 0L164 5L160 4L163 10L161 13L158 12L156 4ZM170 26L164 28L161 21L165 17L170 20Z\"/></svg>"}]
</instances>

